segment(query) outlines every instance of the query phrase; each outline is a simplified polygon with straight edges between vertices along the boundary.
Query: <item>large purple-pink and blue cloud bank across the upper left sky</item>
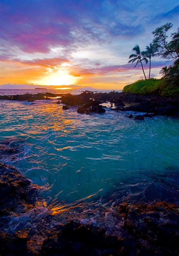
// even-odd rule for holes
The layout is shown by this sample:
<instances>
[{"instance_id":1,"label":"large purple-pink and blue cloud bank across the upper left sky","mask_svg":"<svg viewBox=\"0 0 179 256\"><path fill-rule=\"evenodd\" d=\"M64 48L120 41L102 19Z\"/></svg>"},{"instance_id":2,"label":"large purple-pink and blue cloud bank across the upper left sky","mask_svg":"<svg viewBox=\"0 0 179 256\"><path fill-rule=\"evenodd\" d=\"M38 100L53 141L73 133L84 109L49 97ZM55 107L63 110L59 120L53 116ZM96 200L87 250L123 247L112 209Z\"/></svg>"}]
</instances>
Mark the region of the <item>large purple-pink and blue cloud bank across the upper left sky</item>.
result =
<instances>
[{"instance_id":1,"label":"large purple-pink and blue cloud bank across the upper left sky","mask_svg":"<svg viewBox=\"0 0 179 256\"><path fill-rule=\"evenodd\" d=\"M118 1L2 0L2 40L27 53L47 53L59 45L74 49L142 33L140 24L119 19L124 10L132 16L131 9Z\"/></svg>"}]
</instances>

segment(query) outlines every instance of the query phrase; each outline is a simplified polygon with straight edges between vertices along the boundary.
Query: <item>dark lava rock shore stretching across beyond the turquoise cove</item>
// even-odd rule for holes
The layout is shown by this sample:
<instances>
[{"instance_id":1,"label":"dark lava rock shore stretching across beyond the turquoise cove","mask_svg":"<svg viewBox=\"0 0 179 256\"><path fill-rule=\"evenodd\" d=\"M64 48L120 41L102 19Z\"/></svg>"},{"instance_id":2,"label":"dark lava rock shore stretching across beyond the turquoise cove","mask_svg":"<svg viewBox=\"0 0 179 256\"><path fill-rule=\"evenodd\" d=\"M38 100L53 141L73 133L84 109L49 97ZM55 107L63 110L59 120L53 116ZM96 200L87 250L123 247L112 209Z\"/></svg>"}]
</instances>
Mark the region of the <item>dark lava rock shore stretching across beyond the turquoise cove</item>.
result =
<instances>
[{"instance_id":1,"label":"dark lava rock shore stretching across beyond the turquoise cove","mask_svg":"<svg viewBox=\"0 0 179 256\"><path fill-rule=\"evenodd\" d=\"M137 95L123 92L94 93L85 91L80 95L38 93L36 95L0 96L0 99L31 102L35 100L48 100L55 97L61 97L57 104L61 102L66 105L66 107L63 107L63 110L68 110L70 106L77 106L79 113L105 113L105 108L101 104L110 102L114 104L114 107L111 108L114 111L146 113L142 115L142 118L136 118L139 120L157 115L179 117L179 97L166 98L157 95Z\"/></svg>"}]
</instances>

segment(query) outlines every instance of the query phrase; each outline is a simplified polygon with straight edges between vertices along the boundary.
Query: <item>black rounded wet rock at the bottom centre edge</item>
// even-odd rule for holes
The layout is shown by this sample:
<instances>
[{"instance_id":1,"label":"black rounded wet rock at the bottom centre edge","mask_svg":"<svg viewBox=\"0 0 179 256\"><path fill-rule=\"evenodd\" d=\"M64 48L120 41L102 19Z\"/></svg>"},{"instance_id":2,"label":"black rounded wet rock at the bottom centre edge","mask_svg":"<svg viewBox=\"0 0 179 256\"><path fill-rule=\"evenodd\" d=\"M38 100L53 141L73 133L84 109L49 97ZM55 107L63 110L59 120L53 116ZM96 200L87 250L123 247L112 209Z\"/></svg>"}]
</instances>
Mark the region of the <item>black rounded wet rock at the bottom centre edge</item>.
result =
<instances>
[{"instance_id":1,"label":"black rounded wet rock at the bottom centre edge","mask_svg":"<svg viewBox=\"0 0 179 256\"><path fill-rule=\"evenodd\" d=\"M57 225L43 242L42 255L117 255L122 251L117 237L106 236L105 230L69 222Z\"/></svg>"}]
</instances>

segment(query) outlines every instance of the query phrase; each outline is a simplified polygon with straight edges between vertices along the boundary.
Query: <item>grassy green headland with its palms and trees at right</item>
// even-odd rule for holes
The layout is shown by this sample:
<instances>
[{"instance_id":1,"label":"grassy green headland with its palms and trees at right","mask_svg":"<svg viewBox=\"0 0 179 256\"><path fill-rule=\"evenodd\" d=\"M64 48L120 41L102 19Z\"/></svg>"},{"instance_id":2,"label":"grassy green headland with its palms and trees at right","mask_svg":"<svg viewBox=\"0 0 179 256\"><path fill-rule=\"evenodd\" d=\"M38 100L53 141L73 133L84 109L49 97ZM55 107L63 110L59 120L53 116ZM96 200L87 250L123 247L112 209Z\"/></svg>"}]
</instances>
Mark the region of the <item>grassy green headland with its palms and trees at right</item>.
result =
<instances>
[{"instance_id":1,"label":"grassy green headland with its palms and trees at right","mask_svg":"<svg viewBox=\"0 0 179 256\"><path fill-rule=\"evenodd\" d=\"M126 85L123 88L125 93L134 93L141 95L160 95L165 97L179 96L179 28L177 32L171 34L171 40L168 41L168 31L172 28L172 23L166 23L152 32L154 35L153 42L141 51L139 45L136 45L132 51L134 54L129 56L128 63L140 64L145 79L140 79L132 84ZM167 61L174 61L169 67L163 67L159 74L161 79L151 78L151 58L162 57ZM144 64L149 62L148 79L144 71ZM134 68L136 67L134 66Z\"/></svg>"}]
</instances>

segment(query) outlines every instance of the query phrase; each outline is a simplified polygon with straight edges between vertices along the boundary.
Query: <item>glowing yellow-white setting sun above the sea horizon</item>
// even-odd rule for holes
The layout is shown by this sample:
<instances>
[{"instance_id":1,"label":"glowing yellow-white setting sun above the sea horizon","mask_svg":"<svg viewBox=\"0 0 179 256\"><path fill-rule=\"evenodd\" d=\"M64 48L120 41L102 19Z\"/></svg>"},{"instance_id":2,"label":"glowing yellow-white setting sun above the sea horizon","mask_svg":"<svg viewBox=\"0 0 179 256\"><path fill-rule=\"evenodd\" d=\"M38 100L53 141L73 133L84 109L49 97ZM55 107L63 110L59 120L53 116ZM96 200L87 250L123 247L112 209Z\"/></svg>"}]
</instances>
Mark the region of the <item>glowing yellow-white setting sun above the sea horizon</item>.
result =
<instances>
[{"instance_id":1,"label":"glowing yellow-white setting sun above the sea horizon","mask_svg":"<svg viewBox=\"0 0 179 256\"><path fill-rule=\"evenodd\" d=\"M68 74L68 71L56 71L44 76L39 81L33 81L35 84L42 85L70 85L76 84L80 78Z\"/></svg>"}]
</instances>

